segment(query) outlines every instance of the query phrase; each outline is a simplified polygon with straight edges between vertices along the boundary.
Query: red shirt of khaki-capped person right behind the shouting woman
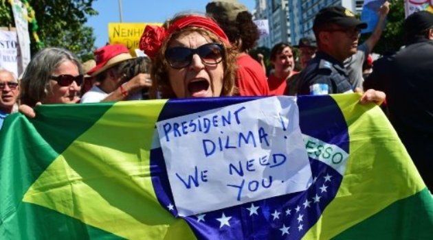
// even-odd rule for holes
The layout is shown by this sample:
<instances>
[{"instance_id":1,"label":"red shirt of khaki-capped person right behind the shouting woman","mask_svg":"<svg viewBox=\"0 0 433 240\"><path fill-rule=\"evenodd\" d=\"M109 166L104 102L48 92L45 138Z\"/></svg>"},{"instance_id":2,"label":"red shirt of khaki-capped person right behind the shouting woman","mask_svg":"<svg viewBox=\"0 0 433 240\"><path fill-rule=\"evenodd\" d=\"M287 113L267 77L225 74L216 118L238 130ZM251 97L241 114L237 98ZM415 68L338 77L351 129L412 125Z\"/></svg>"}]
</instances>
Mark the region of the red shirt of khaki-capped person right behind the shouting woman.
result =
<instances>
[{"instance_id":1,"label":"red shirt of khaki-capped person right behind the shouting woman","mask_svg":"<svg viewBox=\"0 0 433 240\"><path fill-rule=\"evenodd\" d=\"M267 96L266 74L263 67L248 54L237 58L238 71L236 73L236 86L240 96Z\"/></svg>"}]
</instances>

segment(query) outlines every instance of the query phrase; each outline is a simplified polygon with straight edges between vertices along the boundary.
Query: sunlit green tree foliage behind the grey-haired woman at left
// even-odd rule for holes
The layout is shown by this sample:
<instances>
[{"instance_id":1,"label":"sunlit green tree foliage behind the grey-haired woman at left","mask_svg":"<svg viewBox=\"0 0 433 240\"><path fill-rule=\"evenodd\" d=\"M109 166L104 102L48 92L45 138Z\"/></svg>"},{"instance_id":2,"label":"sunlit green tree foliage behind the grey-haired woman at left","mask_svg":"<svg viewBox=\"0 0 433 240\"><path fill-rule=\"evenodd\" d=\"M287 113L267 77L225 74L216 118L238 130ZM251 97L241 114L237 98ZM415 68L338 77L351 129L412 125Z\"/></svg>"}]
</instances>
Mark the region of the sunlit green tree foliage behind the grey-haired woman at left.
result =
<instances>
[{"instance_id":1,"label":"sunlit green tree foliage behind the grey-haired woman at left","mask_svg":"<svg viewBox=\"0 0 433 240\"><path fill-rule=\"evenodd\" d=\"M0 0L1 1L1 0ZM94 0L27 0L33 8L38 23L38 36L45 47L63 47L77 54L83 61L93 58L95 42L93 29L86 27L88 16L98 12L91 5ZM8 1L0 2L0 25L14 27L13 14ZM30 49L33 53L39 46L30 30Z\"/></svg>"}]
</instances>

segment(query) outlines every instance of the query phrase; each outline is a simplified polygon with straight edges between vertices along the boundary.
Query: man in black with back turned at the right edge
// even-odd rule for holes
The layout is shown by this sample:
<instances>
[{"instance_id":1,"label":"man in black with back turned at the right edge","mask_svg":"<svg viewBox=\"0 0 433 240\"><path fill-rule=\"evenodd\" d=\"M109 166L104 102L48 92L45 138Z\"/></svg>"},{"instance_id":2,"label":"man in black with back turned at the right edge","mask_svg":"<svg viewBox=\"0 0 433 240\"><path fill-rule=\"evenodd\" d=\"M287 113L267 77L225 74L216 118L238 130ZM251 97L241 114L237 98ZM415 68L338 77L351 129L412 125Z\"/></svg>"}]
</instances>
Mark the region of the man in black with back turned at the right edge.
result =
<instances>
[{"instance_id":1,"label":"man in black with back turned at the right edge","mask_svg":"<svg viewBox=\"0 0 433 240\"><path fill-rule=\"evenodd\" d=\"M364 88L387 95L389 119L425 184L433 189L433 14L415 12L403 24L406 47L373 65Z\"/></svg>"}]
</instances>

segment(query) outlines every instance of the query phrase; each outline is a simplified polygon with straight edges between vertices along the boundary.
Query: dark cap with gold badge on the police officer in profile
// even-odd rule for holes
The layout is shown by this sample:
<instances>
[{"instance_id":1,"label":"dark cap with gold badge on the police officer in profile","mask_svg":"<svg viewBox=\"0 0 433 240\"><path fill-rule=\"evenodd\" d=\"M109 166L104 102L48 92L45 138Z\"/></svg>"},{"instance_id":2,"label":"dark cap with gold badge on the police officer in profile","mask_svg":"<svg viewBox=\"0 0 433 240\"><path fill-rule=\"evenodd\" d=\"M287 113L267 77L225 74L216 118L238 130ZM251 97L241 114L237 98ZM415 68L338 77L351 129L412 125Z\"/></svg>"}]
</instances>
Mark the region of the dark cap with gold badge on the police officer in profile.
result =
<instances>
[{"instance_id":1,"label":"dark cap with gold badge on the police officer in profile","mask_svg":"<svg viewBox=\"0 0 433 240\"><path fill-rule=\"evenodd\" d=\"M335 23L342 27L358 27L359 29L367 27L367 23L359 21L353 12L340 6L322 8L315 15L313 28L328 23Z\"/></svg>"}]
</instances>

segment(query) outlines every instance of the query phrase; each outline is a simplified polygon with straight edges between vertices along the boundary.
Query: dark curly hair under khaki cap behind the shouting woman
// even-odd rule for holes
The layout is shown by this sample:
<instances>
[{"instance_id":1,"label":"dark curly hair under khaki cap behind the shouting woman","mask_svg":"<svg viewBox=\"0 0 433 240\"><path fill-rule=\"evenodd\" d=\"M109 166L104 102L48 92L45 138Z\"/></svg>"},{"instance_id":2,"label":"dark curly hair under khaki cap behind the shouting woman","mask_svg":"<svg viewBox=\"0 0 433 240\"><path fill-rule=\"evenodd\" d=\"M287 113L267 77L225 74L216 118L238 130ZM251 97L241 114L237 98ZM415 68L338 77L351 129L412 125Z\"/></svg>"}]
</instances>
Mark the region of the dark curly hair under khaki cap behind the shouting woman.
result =
<instances>
[{"instance_id":1,"label":"dark curly hair under khaki cap behind the shouting woman","mask_svg":"<svg viewBox=\"0 0 433 240\"><path fill-rule=\"evenodd\" d=\"M238 46L239 51L248 51L256 46L260 33L256 23L252 21L252 14L249 12L239 12L236 21L228 21L218 16L213 16L213 18L223 29L230 43L238 45L239 41L242 41L242 44Z\"/></svg>"}]
</instances>

